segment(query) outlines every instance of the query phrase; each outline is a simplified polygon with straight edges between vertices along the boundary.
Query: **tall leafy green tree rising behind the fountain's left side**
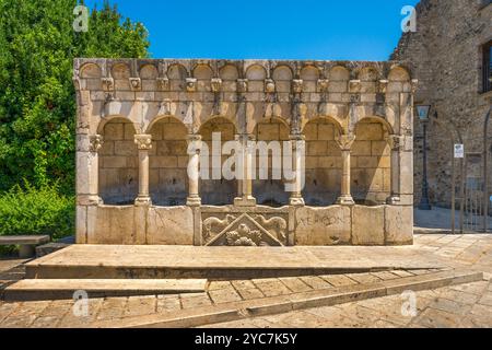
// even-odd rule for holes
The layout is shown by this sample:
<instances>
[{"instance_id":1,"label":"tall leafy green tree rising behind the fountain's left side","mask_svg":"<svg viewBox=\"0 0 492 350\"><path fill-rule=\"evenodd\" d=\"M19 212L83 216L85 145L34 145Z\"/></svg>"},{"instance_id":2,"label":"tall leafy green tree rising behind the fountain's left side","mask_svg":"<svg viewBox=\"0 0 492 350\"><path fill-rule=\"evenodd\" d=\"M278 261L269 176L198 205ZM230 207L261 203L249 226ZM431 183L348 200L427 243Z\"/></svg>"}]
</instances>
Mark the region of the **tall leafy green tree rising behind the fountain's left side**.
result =
<instances>
[{"instance_id":1,"label":"tall leafy green tree rising behind the fountain's left side","mask_svg":"<svg viewBox=\"0 0 492 350\"><path fill-rule=\"evenodd\" d=\"M0 190L74 190L77 57L148 57L148 33L107 2L73 30L77 0L0 0Z\"/></svg>"}]
</instances>

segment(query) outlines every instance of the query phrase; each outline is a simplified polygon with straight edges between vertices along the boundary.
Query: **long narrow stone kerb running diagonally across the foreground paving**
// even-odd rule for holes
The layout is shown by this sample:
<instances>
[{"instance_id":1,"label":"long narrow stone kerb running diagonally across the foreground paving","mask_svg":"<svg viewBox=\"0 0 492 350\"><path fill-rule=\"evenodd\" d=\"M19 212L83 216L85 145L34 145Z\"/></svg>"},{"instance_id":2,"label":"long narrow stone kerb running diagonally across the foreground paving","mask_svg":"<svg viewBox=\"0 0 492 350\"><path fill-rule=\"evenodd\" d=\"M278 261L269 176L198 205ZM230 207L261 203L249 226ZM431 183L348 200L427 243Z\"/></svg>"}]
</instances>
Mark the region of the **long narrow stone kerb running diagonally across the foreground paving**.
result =
<instances>
[{"instance_id":1,"label":"long narrow stone kerb running diagonally across the foreground paving","mask_svg":"<svg viewBox=\"0 0 492 350\"><path fill-rule=\"evenodd\" d=\"M271 296L242 302L231 302L190 310L173 311L120 319L96 320L93 328L189 328L237 320L247 317L282 314L297 310L332 306L373 298L401 294L405 291L422 291L471 283L483 280L482 272L442 271L397 280L347 285L325 290Z\"/></svg>"}]
</instances>

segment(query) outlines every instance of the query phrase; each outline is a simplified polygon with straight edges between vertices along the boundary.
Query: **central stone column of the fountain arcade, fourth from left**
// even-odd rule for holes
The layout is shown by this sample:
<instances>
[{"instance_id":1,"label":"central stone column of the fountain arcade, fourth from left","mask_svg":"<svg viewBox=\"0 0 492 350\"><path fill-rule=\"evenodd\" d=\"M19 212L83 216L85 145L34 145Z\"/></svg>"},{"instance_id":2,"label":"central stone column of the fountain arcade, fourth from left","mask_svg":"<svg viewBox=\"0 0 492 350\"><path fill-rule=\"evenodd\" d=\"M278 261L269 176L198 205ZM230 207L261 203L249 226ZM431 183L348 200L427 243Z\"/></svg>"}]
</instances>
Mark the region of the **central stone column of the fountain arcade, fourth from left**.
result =
<instances>
[{"instance_id":1,"label":"central stone column of the fountain arcade, fourth from left","mask_svg":"<svg viewBox=\"0 0 492 350\"><path fill-rule=\"evenodd\" d=\"M241 178L237 178L237 197L234 199L234 206L237 207L254 207L256 206L256 199L253 197L253 161L255 147L253 141L255 138L250 135L236 135L236 141L239 143L239 158L236 162L236 166L243 168L236 174L241 174Z\"/></svg>"}]
</instances>

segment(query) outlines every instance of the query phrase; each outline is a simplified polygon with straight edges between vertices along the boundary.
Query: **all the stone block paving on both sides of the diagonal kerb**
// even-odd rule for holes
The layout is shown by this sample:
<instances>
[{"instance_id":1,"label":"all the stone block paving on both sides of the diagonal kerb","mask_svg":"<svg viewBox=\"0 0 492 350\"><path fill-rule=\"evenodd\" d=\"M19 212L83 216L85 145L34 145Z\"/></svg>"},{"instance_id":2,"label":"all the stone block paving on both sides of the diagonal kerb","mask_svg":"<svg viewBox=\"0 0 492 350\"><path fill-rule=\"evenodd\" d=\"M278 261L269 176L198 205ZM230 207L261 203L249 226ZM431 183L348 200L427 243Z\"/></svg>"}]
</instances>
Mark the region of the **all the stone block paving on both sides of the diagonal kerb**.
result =
<instances>
[{"instance_id":1,"label":"all the stone block paving on both sides of the diagonal kerb","mask_svg":"<svg viewBox=\"0 0 492 350\"><path fill-rule=\"evenodd\" d=\"M247 318L210 327L492 327L492 235L417 235L419 245L448 266L485 272L487 281L417 292L417 315L402 316L400 295L280 315ZM23 277L23 267L1 265L0 284ZM5 271L8 270L8 271ZM313 289L371 283L434 270L211 281L208 293L92 299L89 314L77 317L72 301L0 302L0 327L90 327L105 319L173 313L213 304L285 295Z\"/></svg>"}]
</instances>

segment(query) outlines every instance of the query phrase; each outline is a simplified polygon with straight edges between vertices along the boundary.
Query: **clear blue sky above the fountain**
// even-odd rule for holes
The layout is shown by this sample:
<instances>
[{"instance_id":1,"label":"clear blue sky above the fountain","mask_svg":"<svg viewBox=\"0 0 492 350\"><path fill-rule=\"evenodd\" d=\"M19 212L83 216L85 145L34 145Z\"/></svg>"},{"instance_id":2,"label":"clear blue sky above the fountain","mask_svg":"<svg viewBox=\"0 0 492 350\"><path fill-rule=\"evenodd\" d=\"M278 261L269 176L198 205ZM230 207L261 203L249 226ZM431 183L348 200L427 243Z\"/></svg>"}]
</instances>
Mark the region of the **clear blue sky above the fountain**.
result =
<instances>
[{"instance_id":1,"label":"clear blue sky above the fountain","mask_svg":"<svg viewBox=\"0 0 492 350\"><path fill-rule=\"evenodd\" d=\"M418 0L110 2L145 25L153 58L386 60Z\"/></svg>"}]
</instances>

